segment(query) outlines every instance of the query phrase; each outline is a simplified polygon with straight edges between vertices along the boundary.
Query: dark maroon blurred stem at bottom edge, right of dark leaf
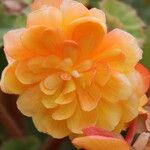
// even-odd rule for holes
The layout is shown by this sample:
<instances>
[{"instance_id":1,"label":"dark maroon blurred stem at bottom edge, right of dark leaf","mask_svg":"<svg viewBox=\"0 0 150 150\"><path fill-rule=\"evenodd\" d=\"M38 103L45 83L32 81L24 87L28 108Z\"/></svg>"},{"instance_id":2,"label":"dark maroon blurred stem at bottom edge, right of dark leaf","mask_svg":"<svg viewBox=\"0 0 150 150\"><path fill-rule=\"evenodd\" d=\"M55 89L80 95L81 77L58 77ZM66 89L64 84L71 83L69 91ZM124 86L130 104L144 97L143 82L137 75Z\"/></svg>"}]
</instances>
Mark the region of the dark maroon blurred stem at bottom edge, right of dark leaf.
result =
<instances>
[{"instance_id":1,"label":"dark maroon blurred stem at bottom edge, right of dark leaf","mask_svg":"<svg viewBox=\"0 0 150 150\"><path fill-rule=\"evenodd\" d=\"M42 145L42 150L58 150L64 139L52 139L48 137Z\"/></svg>"}]
</instances>

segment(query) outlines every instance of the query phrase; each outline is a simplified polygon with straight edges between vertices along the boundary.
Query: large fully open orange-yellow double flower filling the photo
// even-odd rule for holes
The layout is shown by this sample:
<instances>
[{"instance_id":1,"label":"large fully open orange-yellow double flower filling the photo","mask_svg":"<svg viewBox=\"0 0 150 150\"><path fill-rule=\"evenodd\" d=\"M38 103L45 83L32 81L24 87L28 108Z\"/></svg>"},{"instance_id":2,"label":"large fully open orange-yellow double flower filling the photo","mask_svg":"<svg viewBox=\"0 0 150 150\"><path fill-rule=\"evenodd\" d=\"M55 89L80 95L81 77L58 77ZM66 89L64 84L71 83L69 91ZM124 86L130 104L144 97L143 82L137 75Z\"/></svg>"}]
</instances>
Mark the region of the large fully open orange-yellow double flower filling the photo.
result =
<instances>
[{"instance_id":1,"label":"large fully open orange-yellow double flower filling the photo","mask_svg":"<svg viewBox=\"0 0 150 150\"><path fill-rule=\"evenodd\" d=\"M139 114L149 72L130 34L107 33L105 15L73 0L35 0L26 28L4 36L1 88L55 138L95 125L120 131ZM142 69L141 69L142 68Z\"/></svg>"}]
</instances>

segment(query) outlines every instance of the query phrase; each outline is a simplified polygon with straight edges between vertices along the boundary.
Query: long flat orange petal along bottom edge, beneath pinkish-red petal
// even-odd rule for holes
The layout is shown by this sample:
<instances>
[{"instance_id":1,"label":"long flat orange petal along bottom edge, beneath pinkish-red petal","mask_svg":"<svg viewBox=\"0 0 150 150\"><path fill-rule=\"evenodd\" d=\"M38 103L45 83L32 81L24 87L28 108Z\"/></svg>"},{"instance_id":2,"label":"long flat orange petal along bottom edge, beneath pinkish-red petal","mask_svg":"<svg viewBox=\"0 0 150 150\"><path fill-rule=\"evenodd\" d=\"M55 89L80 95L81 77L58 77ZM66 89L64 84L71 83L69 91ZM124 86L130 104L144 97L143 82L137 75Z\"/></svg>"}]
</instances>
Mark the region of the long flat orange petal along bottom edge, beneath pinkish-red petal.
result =
<instances>
[{"instance_id":1,"label":"long flat orange petal along bottom edge, beneath pinkish-red petal","mask_svg":"<svg viewBox=\"0 0 150 150\"><path fill-rule=\"evenodd\" d=\"M129 145L124 140L104 136L79 137L72 142L86 150L129 150Z\"/></svg>"}]
</instances>

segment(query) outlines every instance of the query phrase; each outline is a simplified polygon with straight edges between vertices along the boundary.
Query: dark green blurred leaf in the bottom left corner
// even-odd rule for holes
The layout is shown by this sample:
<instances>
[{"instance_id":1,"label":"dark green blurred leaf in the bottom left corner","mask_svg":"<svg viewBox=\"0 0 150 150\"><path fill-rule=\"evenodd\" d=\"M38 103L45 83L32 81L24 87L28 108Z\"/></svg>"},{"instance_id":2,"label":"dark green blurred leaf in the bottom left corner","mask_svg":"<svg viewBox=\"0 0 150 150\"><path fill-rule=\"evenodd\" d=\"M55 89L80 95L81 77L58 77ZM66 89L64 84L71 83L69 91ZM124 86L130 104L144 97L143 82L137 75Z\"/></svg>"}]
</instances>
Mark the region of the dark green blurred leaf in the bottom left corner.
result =
<instances>
[{"instance_id":1,"label":"dark green blurred leaf in the bottom left corner","mask_svg":"<svg viewBox=\"0 0 150 150\"><path fill-rule=\"evenodd\" d=\"M24 139L11 139L2 145L0 150L37 150L39 146L39 140L30 136Z\"/></svg>"}]
</instances>

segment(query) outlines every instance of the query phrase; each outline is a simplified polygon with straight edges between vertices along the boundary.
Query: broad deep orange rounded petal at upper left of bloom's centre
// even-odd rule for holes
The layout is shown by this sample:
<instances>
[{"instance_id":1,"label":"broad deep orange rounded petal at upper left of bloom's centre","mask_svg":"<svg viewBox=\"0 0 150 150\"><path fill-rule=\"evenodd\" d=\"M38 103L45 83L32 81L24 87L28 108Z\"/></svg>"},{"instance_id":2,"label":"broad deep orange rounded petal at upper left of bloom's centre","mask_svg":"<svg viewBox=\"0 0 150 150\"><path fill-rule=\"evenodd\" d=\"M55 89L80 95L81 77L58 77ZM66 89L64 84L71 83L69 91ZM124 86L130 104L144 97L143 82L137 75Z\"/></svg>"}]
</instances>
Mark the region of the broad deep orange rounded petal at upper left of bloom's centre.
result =
<instances>
[{"instance_id":1,"label":"broad deep orange rounded petal at upper left of bloom's centre","mask_svg":"<svg viewBox=\"0 0 150 150\"><path fill-rule=\"evenodd\" d=\"M30 52L42 56L52 53L59 55L63 37L60 31L51 30L45 26L28 28L22 35L21 41Z\"/></svg>"}]
</instances>

